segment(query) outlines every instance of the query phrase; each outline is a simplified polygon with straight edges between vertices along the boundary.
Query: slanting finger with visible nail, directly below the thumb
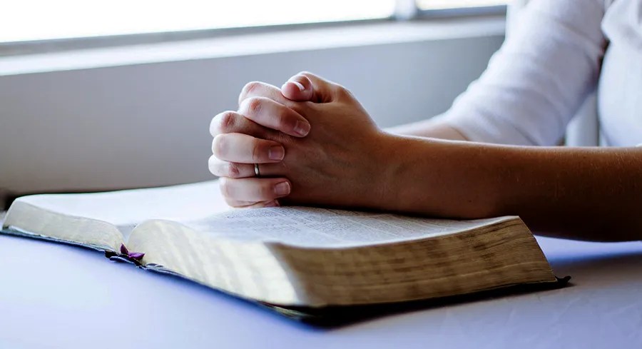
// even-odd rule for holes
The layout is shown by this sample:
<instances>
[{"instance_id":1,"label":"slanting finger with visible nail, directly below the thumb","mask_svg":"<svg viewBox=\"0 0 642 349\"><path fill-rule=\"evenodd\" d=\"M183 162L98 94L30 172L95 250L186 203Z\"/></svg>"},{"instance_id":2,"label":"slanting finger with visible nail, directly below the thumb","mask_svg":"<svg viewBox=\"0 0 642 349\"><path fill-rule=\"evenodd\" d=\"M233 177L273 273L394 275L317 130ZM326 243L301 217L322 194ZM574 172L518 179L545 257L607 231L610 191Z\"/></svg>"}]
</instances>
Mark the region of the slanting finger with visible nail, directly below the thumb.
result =
<instances>
[{"instance_id":1,"label":"slanting finger with visible nail, directly below the thumb","mask_svg":"<svg viewBox=\"0 0 642 349\"><path fill-rule=\"evenodd\" d=\"M238 112L261 126L290 136L305 137L310 132L310 123L300 113L270 98L245 98Z\"/></svg>"}]
</instances>

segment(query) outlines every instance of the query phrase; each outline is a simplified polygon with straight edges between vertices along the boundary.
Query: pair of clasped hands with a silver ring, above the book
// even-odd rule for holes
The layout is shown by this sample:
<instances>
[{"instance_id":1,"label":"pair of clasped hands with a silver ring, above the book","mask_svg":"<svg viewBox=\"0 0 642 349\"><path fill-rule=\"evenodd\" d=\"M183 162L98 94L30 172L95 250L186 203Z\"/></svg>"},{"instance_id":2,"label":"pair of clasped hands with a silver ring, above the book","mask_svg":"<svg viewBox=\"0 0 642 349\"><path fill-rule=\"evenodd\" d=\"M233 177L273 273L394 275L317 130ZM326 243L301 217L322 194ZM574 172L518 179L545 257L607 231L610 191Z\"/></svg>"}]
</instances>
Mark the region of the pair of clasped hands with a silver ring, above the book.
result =
<instances>
[{"instance_id":1,"label":"pair of clasped hands with a silver ring, above the book","mask_svg":"<svg viewBox=\"0 0 642 349\"><path fill-rule=\"evenodd\" d=\"M372 207L384 196L390 135L350 91L314 74L245 85L210 133L209 168L230 206Z\"/></svg>"}]
</instances>

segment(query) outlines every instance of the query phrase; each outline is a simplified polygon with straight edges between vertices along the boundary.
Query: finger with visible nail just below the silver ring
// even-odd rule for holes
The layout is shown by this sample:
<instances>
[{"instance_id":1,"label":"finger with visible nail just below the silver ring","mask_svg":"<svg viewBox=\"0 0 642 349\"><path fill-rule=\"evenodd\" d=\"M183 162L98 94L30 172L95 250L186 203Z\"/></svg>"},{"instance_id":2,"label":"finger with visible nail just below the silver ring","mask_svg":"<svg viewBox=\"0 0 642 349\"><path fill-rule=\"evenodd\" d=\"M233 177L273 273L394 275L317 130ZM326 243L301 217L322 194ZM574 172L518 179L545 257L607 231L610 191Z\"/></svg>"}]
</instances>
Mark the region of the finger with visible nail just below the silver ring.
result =
<instances>
[{"instance_id":1,"label":"finger with visible nail just below the silver ring","mask_svg":"<svg viewBox=\"0 0 642 349\"><path fill-rule=\"evenodd\" d=\"M225 198L238 201L270 201L287 196L292 185L286 178L220 178Z\"/></svg>"}]
</instances>

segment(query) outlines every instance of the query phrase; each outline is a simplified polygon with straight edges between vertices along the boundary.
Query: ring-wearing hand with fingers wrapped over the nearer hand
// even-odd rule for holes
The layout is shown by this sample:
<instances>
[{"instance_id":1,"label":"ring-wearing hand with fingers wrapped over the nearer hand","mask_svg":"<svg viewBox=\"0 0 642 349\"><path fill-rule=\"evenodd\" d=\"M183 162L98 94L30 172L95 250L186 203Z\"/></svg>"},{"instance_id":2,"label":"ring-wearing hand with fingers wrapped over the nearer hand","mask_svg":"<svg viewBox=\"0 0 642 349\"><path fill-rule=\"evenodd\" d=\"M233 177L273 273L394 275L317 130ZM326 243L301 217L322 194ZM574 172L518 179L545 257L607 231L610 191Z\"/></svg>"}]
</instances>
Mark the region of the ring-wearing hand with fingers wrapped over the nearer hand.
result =
<instances>
[{"instance_id":1,"label":"ring-wearing hand with fingers wrapped over the nearer hand","mask_svg":"<svg viewBox=\"0 0 642 349\"><path fill-rule=\"evenodd\" d=\"M307 101L313 97L312 88L307 78L304 84L307 88L296 81L286 83L284 91L292 92L293 87L296 91L290 93L289 98ZM230 206L277 206L278 201L274 199L290 193L290 181L278 177L251 177L255 176L255 163L278 163L285 156L285 148L281 143L259 138L258 135L265 138L266 134L270 134L270 139L282 138L286 134L302 137L310 131L310 123L287 107L293 105L279 88L261 82L246 84L238 98L238 105L238 111L219 113L210 123L210 133L214 136L210 172L221 177L222 189L226 178L248 178L245 186L249 187L250 193L242 191L224 196ZM245 189L245 186L241 186L241 189ZM265 192L253 190L255 186L260 186Z\"/></svg>"}]
</instances>

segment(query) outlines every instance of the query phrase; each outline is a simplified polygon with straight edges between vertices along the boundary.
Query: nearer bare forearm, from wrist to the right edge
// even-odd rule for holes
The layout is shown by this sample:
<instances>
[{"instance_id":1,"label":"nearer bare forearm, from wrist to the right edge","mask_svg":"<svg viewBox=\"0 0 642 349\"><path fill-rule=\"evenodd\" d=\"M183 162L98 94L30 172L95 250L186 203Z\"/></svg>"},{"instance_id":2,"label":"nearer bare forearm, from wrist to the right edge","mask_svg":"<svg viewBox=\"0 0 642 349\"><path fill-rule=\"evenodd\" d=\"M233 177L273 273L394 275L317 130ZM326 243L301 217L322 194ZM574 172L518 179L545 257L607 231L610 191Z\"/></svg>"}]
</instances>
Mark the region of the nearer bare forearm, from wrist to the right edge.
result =
<instances>
[{"instance_id":1,"label":"nearer bare forearm, from wrist to the right edge","mask_svg":"<svg viewBox=\"0 0 642 349\"><path fill-rule=\"evenodd\" d=\"M494 146L392 137L387 209L518 215L536 232L642 240L642 149Z\"/></svg>"}]
</instances>

